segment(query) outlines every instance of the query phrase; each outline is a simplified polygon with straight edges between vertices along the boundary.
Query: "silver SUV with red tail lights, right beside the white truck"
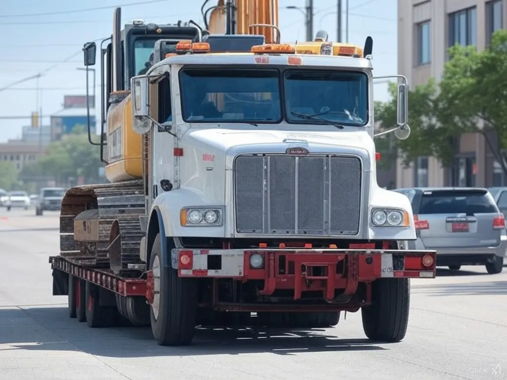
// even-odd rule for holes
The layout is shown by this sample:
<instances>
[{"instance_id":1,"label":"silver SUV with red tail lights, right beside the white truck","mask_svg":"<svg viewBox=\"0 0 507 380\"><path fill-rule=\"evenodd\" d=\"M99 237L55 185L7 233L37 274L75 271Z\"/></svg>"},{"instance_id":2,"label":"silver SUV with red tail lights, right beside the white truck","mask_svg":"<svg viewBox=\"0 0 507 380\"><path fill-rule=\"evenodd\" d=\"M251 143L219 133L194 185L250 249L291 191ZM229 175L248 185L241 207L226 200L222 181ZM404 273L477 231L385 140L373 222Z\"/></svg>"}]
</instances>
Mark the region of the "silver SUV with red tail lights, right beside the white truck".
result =
<instances>
[{"instance_id":1,"label":"silver SUV with red tail lights, right beside the white truck","mask_svg":"<svg viewBox=\"0 0 507 380\"><path fill-rule=\"evenodd\" d=\"M507 235L505 219L485 188L401 188L412 203L416 241L411 249L437 250L437 266L485 265L502 271ZM412 245L412 247L410 247Z\"/></svg>"}]
</instances>

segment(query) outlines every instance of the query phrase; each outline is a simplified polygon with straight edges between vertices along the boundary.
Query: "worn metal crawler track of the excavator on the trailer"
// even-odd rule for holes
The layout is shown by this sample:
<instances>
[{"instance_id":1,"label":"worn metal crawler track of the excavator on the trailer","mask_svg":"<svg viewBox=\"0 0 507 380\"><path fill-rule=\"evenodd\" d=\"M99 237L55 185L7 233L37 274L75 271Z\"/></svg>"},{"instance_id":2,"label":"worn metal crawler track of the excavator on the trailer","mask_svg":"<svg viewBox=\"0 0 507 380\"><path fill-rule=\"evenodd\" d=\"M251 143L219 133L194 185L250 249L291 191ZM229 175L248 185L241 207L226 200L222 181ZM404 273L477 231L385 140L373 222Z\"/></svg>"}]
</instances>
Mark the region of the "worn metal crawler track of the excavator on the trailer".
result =
<instances>
[{"instance_id":1,"label":"worn metal crawler track of the excavator on the trailer","mask_svg":"<svg viewBox=\"0 0 507 380\"><path fill-rule=\"evenodd\" d=\"M139 245L144 234L139 216L145 215L144 201L140 179L70 188L62 200L60 212L60 255L87 267L108 268L122 276L138 276L139 271L129 269L129 264L141 263ZM74 220L87 210L96 210L98 240L76 241ZM117 236L119 238L113 242ZM117 241L120 244L116 244ZM109 251L113 247L119 251L117 249L116 256L110 259Z\"/></svg>"}]
</instances>

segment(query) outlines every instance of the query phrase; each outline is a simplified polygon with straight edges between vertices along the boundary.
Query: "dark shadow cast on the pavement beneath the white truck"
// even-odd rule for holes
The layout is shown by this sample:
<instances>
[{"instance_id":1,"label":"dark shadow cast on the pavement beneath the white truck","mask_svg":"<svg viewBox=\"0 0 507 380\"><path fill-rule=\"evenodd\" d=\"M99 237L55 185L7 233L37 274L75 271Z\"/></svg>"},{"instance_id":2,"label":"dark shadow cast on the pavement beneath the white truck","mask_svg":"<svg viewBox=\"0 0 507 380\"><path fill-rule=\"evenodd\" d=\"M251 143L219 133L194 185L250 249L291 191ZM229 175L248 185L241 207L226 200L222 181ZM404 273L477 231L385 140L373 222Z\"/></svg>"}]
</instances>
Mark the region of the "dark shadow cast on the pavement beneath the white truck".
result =
<instances>
[{"instance_id":1,"label":"dark shadow cast on the pavement beneath the white truck","mask_svg":"<svg viewBox=\"0 0 507 380\"><path fill-rule=\"evenodd\" d=\"M90 328L68 318L67 308L0 308L0 351L85 351L105 357L237 355L271 352L339 352L386 350L371 340L339 339L334 329L197 328L188 347L161 347L150 327ZM8 345L2 347L2 345Z\"/></svg>"}]
</instances>

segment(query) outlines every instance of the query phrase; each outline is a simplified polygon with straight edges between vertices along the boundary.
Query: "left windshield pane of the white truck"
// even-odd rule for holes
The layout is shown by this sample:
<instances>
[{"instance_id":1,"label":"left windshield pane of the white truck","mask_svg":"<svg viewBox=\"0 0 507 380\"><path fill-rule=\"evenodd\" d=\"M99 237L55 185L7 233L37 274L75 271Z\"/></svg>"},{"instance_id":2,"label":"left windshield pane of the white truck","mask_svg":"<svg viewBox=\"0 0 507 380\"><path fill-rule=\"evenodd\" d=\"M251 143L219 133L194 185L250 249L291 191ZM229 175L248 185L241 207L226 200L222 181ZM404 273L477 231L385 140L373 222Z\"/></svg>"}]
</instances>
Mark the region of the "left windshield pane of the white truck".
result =
<instances>
[{"instance_id":1,"label":"left windshield pane of the white truck","mask_svg":"<svg viewBox=\"0 0 507 380\"><path fill-rule=\"evenodd\" d=\"M279 123L279 71L183 69L183 119L186 122Z\"/></svg>"}]
</instances>

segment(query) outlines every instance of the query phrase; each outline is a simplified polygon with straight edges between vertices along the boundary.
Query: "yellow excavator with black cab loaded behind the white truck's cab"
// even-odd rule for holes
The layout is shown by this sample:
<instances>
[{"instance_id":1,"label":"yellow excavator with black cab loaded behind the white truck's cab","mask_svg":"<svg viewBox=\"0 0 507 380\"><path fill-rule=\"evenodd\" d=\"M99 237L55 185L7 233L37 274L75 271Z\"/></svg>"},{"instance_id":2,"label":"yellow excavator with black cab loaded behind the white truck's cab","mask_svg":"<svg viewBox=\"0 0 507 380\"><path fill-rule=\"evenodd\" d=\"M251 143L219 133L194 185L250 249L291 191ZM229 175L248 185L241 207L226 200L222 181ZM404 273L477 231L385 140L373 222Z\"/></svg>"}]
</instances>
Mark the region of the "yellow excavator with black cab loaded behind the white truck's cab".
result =
<instances>
[{"instance_id":1,"label":"yellow excavator with black cab loaded behind the white truck's cab","mask_svg":"<svg viewBox=\"0 0 507 380\"><path fill-rule=\"evenodd\" d=\"M105 176L110 183L78 186L69 189L61 207L60 251L63 256L81 257L83 264L107 267L117 274L139 264L140 231L146 230L144 196L148 184L143 172L148 170L147 141L132 131L130 79L151 64L174 51L179 41L207 42L212 52L249 52L252 46L280 40L278 0L219 0L201 8L204 27L197 22L177 21L157 25L133 20L121 28L121 8L113 18L113 33L100 44L101 134L100 141L88 139L100 149ZM208 7L206 9L206 7ZM85 65L95 63L95 43L84 45ZM151 57L150 57L151 56ZM150 59L151 58L151 59ZM92 62L93 61L93 62ZM87 86L88 87L88 86ZM143 165L144 164L144 165ZM76 230L74 219L90 210L88 229ZM140 218L137 218L140 216ZM123 241L128 242L121 258L107 257L113 220L127 220ZM96 229L90 230L90 225ZM89 233L87 233L87 231Z\"/></svg>"}]
</instances>

